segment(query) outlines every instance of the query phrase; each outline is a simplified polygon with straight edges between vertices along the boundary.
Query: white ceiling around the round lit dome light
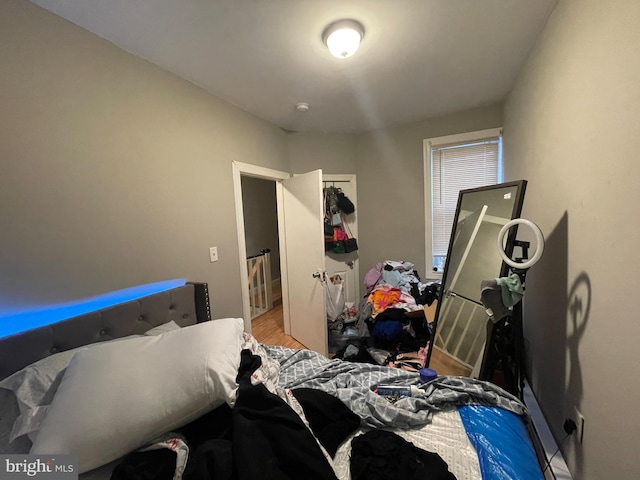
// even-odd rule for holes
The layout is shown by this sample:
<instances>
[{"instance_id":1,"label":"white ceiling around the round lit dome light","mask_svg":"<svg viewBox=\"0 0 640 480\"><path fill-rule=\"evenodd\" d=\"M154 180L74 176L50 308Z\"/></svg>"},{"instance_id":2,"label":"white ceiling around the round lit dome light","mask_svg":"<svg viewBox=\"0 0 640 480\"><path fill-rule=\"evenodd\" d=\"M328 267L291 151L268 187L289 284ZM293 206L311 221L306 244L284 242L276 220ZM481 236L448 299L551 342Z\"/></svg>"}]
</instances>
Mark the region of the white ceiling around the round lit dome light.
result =
<instances>
[{"instance_id":1,"label":"white ceiling around the round lit dome light","mask_svg":"<svg viewBox=\"0 0 640 480\"><path fill-rule=\"evenodd\" d=\"M361 132L497 102L557 0L32 0L290 131ZM324 27L354 18L360 50ZM310 104L300 113L298 102Z\"/></svg>"}]
</instances>

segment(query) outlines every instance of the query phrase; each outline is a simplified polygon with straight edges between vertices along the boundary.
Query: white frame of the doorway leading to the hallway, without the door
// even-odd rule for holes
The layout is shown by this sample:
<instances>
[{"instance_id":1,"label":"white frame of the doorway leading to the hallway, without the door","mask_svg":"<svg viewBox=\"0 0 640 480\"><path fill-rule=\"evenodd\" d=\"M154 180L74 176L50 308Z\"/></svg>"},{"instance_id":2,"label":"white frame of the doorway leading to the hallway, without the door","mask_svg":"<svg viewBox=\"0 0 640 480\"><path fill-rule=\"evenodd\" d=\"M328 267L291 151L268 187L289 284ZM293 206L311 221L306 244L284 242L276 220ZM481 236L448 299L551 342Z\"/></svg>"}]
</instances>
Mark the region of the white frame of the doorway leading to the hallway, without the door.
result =
<instances>
[{"instance_id":1,"label":"white frame of the doorway leading to the hallway, without the door","mask_svg":"<svg viewBox=\"0 0 640 480\"><path fill-rule=\"evenodd\" d=\"M289 315L289 295L287 278L287 248L284 235L283 218L281 215L283 197L280 182L291 177L291 174L271 168L259 167L243 162L232 162L233 193L236 206L236 227L238 231L238 258L240 263L240 288L242 292L242 316L244 329L251 333L251 302L249 297L249 274L247 272L247 243L244 230L244 206L242 204L242 176L255 177L276 182L276 206L278 215L278 241L280 243L280 283L282 285L282 314L284 318L284 332L291 332L291 317Z\"/></svg>"}]
</instances>

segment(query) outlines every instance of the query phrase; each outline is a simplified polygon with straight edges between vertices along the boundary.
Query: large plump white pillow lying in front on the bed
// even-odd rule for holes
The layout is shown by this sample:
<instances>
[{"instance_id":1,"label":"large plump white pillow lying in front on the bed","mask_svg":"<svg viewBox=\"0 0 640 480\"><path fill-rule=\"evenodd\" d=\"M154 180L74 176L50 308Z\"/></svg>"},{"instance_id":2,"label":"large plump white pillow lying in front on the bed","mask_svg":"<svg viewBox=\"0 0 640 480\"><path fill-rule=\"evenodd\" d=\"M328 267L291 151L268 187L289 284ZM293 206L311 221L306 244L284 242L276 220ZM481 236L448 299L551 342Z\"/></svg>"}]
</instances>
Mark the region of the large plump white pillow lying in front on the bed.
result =
<instances>
[{"instance_id":1,"label":"large plump white pillow lying in front on the bed","mask_svg":"<svg viewBox=\"0 0 640 480\"><path fill-rule=\"evenodd\" d=\"M227 318L79 351L31 453L76 454L83 473L233 405L242 332Z\"/></svg>"}]
</instances>

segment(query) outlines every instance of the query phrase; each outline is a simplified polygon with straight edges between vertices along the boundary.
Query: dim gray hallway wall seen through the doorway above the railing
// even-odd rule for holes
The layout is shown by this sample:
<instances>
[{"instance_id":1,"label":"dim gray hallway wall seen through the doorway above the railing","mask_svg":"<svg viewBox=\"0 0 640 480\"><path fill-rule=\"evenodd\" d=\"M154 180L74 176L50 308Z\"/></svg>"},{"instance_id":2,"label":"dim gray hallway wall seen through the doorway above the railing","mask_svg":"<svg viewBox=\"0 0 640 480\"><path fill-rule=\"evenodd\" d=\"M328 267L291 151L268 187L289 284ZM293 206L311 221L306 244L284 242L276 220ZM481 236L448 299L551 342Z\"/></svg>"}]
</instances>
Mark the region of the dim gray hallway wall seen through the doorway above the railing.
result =
<instances>
[{"instance_id":1,"label":"dim gray hallway wall seen through the doorway above the railing","mask_svg":"<svg viewBox=\"0 0 640 480\"><path fill-rule=\"evenodd\" d=\"M242 177L242 209L247 255L271 250L271 279L280 278L276 182Z\"/></svg>"}]
</instances>

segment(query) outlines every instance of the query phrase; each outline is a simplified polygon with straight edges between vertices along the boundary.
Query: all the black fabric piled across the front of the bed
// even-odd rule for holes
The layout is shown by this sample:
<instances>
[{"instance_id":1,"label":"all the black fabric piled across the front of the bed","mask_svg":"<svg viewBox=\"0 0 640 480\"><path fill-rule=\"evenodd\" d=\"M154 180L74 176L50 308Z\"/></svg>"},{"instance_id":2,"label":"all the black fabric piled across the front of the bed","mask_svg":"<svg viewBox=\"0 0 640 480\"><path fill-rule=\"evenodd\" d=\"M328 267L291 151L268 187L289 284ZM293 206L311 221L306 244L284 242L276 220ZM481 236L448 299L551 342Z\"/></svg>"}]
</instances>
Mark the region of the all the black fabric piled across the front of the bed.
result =
<instances>
[{"instance_id":1,"label":"all the black fabric piled across the front of the bed","mask_svg":"<svg viewBox=\"0 0 640 480\"><path fill-rule=\"evenodd\" d=\"M262 359L242 351L238 397L173 435L125 457L112 480L335 480L327 461L360 426L360 417L337 398L316 389L290 390L306 422L278 395L251 376ZM187 446L188 458L175 450ZM354 439L351 469L357 479L455 480L440 456L384 430Z\"/></svg>"}]
</instances>

